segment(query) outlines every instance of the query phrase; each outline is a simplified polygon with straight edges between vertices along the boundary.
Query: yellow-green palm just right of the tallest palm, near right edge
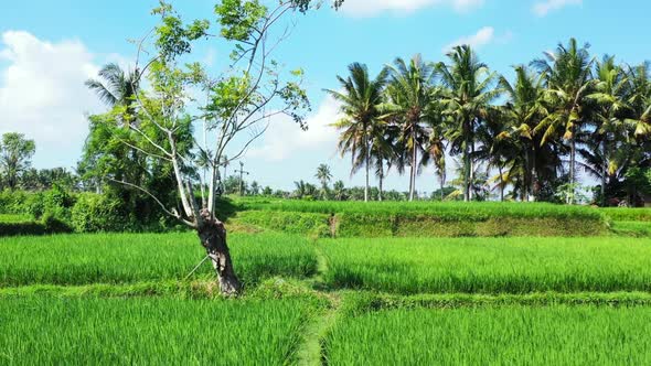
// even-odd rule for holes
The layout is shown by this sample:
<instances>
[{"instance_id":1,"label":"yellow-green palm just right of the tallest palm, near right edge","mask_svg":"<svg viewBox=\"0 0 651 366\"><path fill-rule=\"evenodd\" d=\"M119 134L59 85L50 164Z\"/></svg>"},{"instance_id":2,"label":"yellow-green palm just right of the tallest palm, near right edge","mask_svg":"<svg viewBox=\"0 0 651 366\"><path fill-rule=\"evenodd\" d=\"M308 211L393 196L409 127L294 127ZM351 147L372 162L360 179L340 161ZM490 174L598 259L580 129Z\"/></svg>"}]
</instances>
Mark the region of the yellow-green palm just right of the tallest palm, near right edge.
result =
<instances>
[{"instance_id":1,"label":"yellow-green palm just right of the tallest palm, near right edge","mask_svg":"<svg viewBox=\"0 0 651 366\"><path fill-rule=\"evenodd\" d=\"M626 99L626 92L630 83L623 69L615 64L615 57L604 56L596 66L596 86L587 99L597 104L594 120L596 122L595 139L600 144L601 205L606 205L606 184L608 176L617 171L617 162L612 153L616 139L625 128L623 112L630 109Z\"/></svg>"}]
</instances>

